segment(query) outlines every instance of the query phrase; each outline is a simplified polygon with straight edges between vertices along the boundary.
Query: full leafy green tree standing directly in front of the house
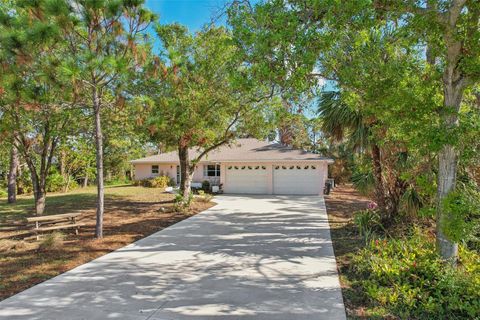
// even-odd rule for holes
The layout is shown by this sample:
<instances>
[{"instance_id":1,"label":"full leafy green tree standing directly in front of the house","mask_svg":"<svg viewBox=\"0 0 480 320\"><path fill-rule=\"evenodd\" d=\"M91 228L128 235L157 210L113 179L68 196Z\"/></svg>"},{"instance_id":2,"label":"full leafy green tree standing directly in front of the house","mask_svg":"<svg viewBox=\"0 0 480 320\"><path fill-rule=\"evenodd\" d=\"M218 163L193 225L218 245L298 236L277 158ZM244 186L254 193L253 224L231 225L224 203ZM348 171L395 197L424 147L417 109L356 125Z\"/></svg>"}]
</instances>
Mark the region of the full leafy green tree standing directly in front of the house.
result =
<instances>
[{"instance_id":1,"label":"full leafy green tree standing directly in front of the house","mask_svg":"<svg viewBox=\"0 0 480 320\"><path fill-rule=\"evenodd\" d=\"M238 137L265 134L264 86L246 81L231 34L223 27L205 27L191 34L178 24L158 25L164 44L147 72L138 122L152 142L179 153L184 197L195 164ZM162 59L162 60L160 60ZM198 150L190 159L188 149Z\"/></svg>"}]
</instances>

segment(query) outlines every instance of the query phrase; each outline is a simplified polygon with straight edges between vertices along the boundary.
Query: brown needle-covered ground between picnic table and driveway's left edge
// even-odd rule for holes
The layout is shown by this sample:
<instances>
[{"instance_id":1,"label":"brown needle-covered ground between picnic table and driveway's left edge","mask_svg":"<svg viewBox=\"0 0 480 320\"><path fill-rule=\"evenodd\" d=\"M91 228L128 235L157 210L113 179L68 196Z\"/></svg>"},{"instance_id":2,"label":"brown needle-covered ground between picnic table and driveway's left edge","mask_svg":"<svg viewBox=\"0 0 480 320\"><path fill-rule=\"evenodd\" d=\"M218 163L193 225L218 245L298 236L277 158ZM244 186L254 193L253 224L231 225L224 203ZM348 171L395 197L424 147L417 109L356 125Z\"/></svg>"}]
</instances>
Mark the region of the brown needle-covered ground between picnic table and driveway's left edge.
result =
<instances>
[{"instance_id":1,"label":"brown needle-covered ground between picnic table and driveway's left edge","mask_svg":"<svg viewBox=\"0 0 480 320\"><path fill-rule=\"evenodd\" d=\"M59 248L39 250L39 242L19 242L23 247L0 252L0 300L189 218L213 204L197 204L186 214L159 212L158 208L164 205L164 202L108 202L101 240L94 239L95 209L90 209L82 220L86 225L80 227L79 235L64 231L65 241Z\"/></svg>"}]
</instances>

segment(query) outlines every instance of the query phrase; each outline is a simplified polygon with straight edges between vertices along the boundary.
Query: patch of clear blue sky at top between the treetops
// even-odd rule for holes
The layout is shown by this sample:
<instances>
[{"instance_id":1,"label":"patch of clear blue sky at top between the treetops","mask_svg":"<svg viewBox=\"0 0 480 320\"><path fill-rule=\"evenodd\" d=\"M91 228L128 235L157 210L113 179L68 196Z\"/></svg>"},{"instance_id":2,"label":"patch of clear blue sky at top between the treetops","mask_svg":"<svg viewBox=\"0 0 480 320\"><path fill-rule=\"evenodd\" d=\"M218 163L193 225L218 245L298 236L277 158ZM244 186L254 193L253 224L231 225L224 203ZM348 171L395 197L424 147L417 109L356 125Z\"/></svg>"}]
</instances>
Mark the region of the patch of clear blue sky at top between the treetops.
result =
<instances>
[{"instance_id":1,"label":"patch of clear blue sky at top between the treetops","mask_svg":"<svg viewBox=\"0 0 480 320\"><path fill-rule=\"evenodd\" d=\"M160 23L178 22L190 31L201 27L218 16L226 0L147 0L146 6L160 16ZM225 23L222 17L217 24Z\"/></svg>"}]
</instances>

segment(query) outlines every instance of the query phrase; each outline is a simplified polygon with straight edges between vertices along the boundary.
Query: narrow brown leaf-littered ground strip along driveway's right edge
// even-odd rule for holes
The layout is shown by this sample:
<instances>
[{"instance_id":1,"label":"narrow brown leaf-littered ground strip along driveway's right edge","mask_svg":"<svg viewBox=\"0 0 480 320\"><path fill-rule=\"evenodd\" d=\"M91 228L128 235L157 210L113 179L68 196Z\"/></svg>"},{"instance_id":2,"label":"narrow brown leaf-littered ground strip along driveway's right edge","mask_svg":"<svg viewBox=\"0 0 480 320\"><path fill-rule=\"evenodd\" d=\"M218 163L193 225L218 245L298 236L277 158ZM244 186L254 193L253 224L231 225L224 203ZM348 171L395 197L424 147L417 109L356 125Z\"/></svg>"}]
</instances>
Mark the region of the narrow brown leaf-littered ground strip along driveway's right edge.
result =
<instances>
[{"instance_id":1,"label":"narrow brown leaf-littered ground strip along driveway's right edge","mask_svg":"<svg viewBox=\"0 0 480 320\"><path fill-rule=\"evenodd\" d=\"M372 314L366 314L367 302L362 300L363 295L352 288L348 274L352 256L364 245L362 237L353 224L353 214L366 209L370 200L358 194L352 186L342 185L335 188L330 195L325 196L325 202L347 318L375 317Z\"/></svg>"}]
</instances>

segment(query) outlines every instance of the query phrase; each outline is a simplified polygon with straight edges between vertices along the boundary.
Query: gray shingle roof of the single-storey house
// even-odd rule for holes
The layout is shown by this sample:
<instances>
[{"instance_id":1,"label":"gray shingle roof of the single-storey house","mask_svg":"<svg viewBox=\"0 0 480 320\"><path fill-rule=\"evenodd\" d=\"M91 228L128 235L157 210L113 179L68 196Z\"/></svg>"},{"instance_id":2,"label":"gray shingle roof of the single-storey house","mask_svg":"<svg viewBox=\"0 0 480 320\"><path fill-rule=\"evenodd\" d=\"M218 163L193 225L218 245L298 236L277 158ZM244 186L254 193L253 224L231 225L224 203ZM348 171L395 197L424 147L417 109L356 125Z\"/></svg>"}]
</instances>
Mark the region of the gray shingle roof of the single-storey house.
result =
<instances>
[{"instance_id":1,"label":"gray shingle roof of the single-storey house","mask_svg":"<svg viewBox=\"0 0 480 320\"><path fill-rule=\"evenodd\" d=\"M199 154L197 150L189 151L190 158ZM300 149L293 149L279 143L270 143L257 139L238 139L231 145L224 145L211 151L202 161L232 162L232 161L291 161L291 160L323 160L332 159ZM166 152L131 161L131 163L178 162L176 151Z\"/></svg>"}]
</instances>

